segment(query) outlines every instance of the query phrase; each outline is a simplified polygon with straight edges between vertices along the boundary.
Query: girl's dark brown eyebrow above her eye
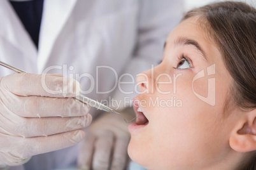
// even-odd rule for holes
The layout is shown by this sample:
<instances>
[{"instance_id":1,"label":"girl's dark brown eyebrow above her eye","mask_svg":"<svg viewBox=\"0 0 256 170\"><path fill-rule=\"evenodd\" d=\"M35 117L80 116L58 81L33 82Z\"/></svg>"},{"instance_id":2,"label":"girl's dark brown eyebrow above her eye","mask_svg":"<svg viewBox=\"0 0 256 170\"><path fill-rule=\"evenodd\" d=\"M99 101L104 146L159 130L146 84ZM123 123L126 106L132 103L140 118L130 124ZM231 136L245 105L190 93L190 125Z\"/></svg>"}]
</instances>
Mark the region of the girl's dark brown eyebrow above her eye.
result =
<instances>
[{"instance_id":1,"label":"girl's dark brown eyebrow above her eye","mask_svg":"<svg viewBox=\"0 0 256 170\"><path fill-rule=\"evenodd\" d=\"M164 48L166 48L166 44L167 44L167 42L164 42ZM176 39L174 41L174 46L178 46L178 45L195 46L197 48L197 50L201 53L201 55L204 57L204 59L207 61L204 50L201 48L201 46L199 46L199 43L196 40L188 39L187 37L178 37L178 39Z\"/></svg>"}]
</instances>

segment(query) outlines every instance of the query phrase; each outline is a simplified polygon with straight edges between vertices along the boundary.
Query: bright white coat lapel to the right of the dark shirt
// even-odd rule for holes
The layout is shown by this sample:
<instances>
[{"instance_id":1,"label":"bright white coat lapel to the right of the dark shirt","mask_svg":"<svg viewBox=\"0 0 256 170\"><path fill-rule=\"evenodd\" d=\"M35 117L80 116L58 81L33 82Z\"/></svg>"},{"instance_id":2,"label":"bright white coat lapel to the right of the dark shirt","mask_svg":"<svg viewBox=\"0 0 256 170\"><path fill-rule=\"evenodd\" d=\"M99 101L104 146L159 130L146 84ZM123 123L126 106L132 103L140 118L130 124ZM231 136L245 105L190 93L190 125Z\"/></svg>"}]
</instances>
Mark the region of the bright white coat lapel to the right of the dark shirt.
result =
<instances>
[{"instance_id":1,"label":"bright white coat lapel to the right of the dark shirt","mask_svg":"<svg viewBox=\"0 0 256 170\"><path fill-rule=\"evenodd\" d=\"M77 0L45 0L39 34L38 72L43 72L55 40L68 20Z\"/></svg>"}]
</instances>

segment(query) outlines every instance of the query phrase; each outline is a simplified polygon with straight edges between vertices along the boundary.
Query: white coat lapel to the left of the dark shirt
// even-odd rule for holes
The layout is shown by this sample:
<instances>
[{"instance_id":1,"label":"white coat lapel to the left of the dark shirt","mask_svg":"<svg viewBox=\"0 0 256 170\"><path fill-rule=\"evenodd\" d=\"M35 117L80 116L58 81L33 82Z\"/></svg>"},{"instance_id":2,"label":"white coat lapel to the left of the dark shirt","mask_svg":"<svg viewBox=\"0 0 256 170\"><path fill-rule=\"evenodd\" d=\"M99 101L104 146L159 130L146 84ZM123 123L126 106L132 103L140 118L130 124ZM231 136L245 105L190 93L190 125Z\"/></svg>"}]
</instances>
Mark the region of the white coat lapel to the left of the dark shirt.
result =
<instances>
[{"instance_id":1,"label":"white coat lapel to the left of the dark shirt","mask_svg":"<svg viewBox=\"0 0 256 170\"><path fill-rule=\"evenodd\" d=\"M4 27L0 27L0 36L21 51L22 55L17 56L17 60L22 58L36 60L36 46L11 4L8 0L1 0L0 6L3 6L0 10L0 22L4 24Z\"/></svg>"}]
</instances>

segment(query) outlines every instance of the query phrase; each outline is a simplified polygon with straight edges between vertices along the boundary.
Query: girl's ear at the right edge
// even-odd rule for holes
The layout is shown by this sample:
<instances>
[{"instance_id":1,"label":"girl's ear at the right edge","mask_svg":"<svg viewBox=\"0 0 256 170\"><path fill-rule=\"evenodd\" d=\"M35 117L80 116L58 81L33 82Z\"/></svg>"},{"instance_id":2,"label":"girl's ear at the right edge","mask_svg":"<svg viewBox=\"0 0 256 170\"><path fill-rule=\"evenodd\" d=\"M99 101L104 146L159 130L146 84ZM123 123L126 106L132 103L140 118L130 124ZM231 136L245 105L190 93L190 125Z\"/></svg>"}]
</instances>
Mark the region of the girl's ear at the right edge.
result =
<instances>
[{"instance_id":1,"label":"girl's ear at the right edge","mask_svg":"<svg viewBox=\"0 0 256 170\"><path fill-rule=\"evenodd\" d=\"M229 138L229 145L237 152L256 150L256 108L246 112L245 119L238 122Z\"/></svg>"}]
</instances>

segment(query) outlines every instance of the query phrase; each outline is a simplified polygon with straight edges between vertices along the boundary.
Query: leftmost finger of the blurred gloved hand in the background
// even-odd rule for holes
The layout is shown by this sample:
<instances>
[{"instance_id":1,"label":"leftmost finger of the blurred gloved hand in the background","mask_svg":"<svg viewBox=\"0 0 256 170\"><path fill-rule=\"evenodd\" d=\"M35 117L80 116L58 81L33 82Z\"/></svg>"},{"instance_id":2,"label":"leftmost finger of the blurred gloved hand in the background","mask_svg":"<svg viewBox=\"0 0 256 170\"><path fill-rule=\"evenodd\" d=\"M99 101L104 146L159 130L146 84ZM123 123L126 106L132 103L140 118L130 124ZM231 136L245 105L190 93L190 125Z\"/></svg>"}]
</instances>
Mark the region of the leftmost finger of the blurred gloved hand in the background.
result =
<instances>
[{"instance_id":1,"label":"leftmost finger of the blurred gloved hand in the background","mask_svg":"<svg viewBox=\"0 0 256 170\"><path fill-rule=\"evenodd\" d=\"M83 146L78 155L78 169L90 170L92 167L92 155L94 154L94 142L96 136L92 133L87 133Z\"/></svg>"}]
</instances>

